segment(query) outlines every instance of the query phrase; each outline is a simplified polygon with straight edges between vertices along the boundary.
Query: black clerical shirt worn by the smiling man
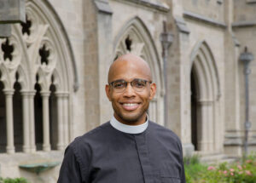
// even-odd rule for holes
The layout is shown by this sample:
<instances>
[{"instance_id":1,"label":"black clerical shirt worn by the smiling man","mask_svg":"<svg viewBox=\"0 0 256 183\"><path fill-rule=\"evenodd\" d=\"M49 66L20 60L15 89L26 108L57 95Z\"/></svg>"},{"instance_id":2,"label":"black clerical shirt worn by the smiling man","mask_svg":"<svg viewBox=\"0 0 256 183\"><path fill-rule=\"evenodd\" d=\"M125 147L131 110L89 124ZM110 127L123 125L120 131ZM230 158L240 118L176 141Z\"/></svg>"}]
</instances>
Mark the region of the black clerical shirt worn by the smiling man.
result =
<instances>
[{"instance_id":1,"label":"black clerical shirt worn by the smiling man","mask_svg":"<svg viewBox=\"0 0 256 183\"><path fill-rule=\"evenodd\" d=\"M185 183L181 142L156 123L139 134L108 122L67 146L58 183Z\"/></svg>"}]
</instances>

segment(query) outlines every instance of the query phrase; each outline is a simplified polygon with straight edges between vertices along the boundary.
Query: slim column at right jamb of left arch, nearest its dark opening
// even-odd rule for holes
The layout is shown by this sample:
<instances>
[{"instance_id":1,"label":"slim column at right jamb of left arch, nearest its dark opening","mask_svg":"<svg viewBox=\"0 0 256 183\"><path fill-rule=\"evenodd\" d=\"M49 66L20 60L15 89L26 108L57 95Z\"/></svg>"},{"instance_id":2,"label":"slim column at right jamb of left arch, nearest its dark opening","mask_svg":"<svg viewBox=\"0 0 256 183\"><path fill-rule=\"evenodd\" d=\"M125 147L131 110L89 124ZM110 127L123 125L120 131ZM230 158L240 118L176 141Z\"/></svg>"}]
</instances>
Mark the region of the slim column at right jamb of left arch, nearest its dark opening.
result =
<instances>
[{"instance_id":1,"label":"slim column at right jamb of left arch, nearest its dark opening","mask_svg":"<svg viewBox=\"0 0 256 183\"><path fill-rule=\"evenodd\" d=\"M57 109L58 109L58 143L57 149L63 150L64 149L64 126L63 126L63 94L62 93L55 93L57 97Z\"/></svg>"}]
</instances>

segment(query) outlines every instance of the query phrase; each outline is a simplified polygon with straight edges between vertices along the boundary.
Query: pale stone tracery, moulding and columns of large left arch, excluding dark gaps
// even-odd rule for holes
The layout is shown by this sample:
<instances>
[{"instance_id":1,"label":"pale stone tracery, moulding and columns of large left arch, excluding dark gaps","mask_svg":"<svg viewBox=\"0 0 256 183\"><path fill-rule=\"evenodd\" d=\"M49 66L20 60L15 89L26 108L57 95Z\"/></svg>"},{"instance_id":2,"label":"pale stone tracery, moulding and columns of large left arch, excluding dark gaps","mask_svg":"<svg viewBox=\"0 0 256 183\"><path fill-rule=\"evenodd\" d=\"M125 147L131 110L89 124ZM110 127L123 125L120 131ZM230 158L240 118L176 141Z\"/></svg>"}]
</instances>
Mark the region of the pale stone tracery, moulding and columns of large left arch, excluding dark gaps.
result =
<instances>
[{"instance_id":1,"label":"pale stone tracery, moulding and columns of large left arch, excluding dark gaps","mask_svg":"<svg viewBox=\"0 0 256 183\"><path fill-rule=\"evenodd\" d=\"M14 123L11 113L12 96L15 76L18 73L23 102L22 123L23 128L26 129L23 152L36 151L33 105L36 83L40 85L44 106L43 149L49 151L49 96L52 92L50 86L54 84L58 113L56 146L59 150L63 149L68 144L70 135L69 98L73 90L78 89L79 83L73 50L61 20L47 1L26 1L26 23L13 25L11 37L0 39L0 45L0 79L4 85L4 94L9 99L6 106L6 110L9 110L9 116L6 117L8 128L12 129ZM52 81L53 77L54 81ZM8 133L7 152L13 153L15 152L14 134L12 130Z\"/></svg>"}]
</instances>

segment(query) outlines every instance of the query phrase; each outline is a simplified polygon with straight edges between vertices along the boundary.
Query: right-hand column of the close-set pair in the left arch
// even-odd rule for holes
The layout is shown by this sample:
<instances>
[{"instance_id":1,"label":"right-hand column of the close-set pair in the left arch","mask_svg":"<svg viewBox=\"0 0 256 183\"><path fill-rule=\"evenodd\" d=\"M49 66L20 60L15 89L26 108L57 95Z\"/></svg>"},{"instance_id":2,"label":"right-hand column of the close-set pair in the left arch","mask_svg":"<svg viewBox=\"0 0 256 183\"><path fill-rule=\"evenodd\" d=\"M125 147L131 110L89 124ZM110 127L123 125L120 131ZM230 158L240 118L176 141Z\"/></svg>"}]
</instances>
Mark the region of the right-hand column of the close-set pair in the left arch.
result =
<instances>
[{"instance_id":1,"label":"right-hand column of the close-set pair in the left arch","mask_svg":"<svg viewBox=\"0 0 256 183\"><path fill-rule=\"evenodd\" d=\"M29 106L29 139L30 139L30 152L36 152L36 136L35 136L35 116L34 116L34 96L36 92L30 91L28 93L28 106Z\"/></svg>"}]
</instances>

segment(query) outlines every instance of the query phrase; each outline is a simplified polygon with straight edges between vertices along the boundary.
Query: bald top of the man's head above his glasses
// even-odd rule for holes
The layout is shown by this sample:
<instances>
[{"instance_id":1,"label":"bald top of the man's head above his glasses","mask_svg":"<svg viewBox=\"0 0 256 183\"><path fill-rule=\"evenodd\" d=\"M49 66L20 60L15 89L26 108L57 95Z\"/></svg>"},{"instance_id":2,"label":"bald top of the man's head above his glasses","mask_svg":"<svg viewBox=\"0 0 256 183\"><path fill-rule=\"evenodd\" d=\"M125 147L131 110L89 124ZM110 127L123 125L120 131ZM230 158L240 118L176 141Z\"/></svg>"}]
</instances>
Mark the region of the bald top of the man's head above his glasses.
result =
<instances>
[{"instance_id":1,"label":"bald top of the man's head above his glasses","mask_svg":"<svg viewBox=\"0 0 256 183\"><path fill-rule=\"evenodd\" d=\"M131 71L137 72L148 81L152 80L152 75L148 63L141 57L134 54L124 54L113 62L108 71L108 83L113 82L117 75L124 75L129 77ZM140 77L138 77L140 78Z\"/></svg>"}]
</instances>

